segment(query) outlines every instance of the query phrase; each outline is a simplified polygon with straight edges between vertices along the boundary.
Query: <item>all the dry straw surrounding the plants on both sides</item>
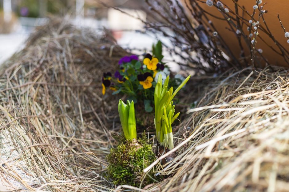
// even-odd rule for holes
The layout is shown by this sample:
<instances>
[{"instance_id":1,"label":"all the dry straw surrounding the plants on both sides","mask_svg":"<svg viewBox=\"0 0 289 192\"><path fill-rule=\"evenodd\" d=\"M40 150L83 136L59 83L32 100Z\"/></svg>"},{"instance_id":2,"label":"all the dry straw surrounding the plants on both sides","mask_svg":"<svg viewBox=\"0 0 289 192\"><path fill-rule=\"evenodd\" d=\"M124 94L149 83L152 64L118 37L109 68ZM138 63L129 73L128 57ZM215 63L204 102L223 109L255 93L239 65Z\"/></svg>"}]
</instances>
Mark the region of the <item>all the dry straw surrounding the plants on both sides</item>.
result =
<instances>
[{"instance_id":1,"label":"all the dry straw surrounding the plants on both sides","mask_svg":"<svg viewBox=\"0 0 289 192\"><path fill-rule=\"evenodd\" d=\"M0 178L8 188L132 188L101 175L120 126L117 98L101 96L99 81L126 54L109 39L50 22L10 59L0 78ZM249 69L199 81L198 106L174 128L176 158L156 162L156 174L170 176L142 190L287 190L288 85L286 71ZM196 87L187 86L187 102Z\"/></svg>"}]
</instances>

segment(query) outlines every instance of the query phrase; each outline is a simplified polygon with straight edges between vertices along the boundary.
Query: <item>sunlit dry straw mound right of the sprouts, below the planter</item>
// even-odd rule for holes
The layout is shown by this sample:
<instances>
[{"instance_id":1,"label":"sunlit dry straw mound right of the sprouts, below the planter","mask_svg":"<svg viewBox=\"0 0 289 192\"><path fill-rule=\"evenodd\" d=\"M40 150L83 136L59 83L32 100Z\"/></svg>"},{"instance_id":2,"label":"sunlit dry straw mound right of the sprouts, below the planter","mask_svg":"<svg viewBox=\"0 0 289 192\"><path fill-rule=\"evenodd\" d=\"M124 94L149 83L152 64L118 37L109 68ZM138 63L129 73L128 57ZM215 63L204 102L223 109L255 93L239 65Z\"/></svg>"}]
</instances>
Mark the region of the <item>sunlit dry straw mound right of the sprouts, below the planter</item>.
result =
<instances>
[{"instance_id":1,"label":"sunlit dry straw mound right of the sprouts, below the planter","mask_svg":"<svg viewBox=\"0 0 289 192\"><path fill-rule=\"evenodd\" d=\"M244 72L213 80L203 107L188 111L178 156L161 172L174 173L158 185L163 191L287 191L289 80Z\"/></svg>"}]
</instances>

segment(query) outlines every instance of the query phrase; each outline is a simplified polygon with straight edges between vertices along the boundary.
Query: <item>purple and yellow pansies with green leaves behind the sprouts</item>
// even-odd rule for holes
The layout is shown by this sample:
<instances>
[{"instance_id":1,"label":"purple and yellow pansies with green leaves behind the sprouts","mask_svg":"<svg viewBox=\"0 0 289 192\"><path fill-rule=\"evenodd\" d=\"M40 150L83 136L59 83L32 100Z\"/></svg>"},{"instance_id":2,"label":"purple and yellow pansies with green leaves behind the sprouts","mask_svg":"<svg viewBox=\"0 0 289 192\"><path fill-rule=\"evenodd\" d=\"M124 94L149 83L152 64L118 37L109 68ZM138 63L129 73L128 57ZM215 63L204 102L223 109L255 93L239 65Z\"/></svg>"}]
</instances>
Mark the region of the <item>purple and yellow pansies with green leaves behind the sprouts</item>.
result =
<instances>
[{"instance_id":1,"label":"purple and yellow pansies with green leaves behind the sprouts","mask_svg":"<svg viewBox=\"0 0 289 192\"><path fill-rule=\"evenodd\" d=\"M161 48L159 48L161 49ZM156 49L154 49L156 50ZM159 74L164 77L170 75L168 66L161 60L163 56L158 50L151 54L144 54L144 59L139 60L137 55L125 56L118 62L119 69L112 73L104 73L102 77L102 94L105 95L109 88L113 90L113 95L122 93L128 96L129 100L137 103L138 100L144 101L146 111L152 110L151 104L154 100L154 87L158 81ZM176 87L184 80L181 75L176 75L171 79L170 86Z\"/></svg>"}]
</instances>

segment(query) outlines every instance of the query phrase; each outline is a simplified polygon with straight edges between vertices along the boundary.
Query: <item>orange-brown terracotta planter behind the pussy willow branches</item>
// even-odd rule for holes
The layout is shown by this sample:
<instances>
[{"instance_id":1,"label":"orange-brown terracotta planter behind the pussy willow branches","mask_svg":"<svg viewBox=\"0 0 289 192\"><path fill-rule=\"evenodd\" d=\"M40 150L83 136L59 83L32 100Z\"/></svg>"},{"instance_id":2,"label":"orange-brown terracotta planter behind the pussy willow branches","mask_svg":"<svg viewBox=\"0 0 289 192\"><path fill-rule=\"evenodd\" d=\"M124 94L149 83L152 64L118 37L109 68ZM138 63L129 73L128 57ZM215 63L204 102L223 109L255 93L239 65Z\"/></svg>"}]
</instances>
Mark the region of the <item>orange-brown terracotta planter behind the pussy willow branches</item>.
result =
<instances>
[{"instance_id":1,"label":"orange-brown terracotta planter behind the pussy willow branches","mask_svg":"<svg viewBox=\"0 0 289 192\"><path fill-rule=\"evenodd\" d=\"M203 1L205 2L205 0L203 0ZM220 1L222 3L224 3L225 5L227 5L231 10L235 11L235 4L234 4L233 0L220 0ZM288 12L289 2L288 2L288 0L278 0L278 1L263 0L263 3L265 3L265 2L267 2L267 4L264 6L264 10L268 10L268 13L266 13L264 15L265 21L266 21L271 33L275 37L275 39L285 49L289 50L289 43L287 43L288 39L285 38L285 36L284 36L285 33L284 33L283 29L281 28L281 25L280 25L279 20L277 18L277 14L279 13L284 27L287 28L288 32L289 32L289 20L288 20L288 18L289 18L289 12ZM224 18L222 16L222 14L220 13L220 11L215 6L209 7L205 3L201 3L201 2L198 2L198 3L204 10L208 11L212 15ZM250 16L245 14L244 17L245 17L245 19L250 20L251 14L253 13L253 6L256 4L255 1L254 0L239 0L238 3L240 6L244 6L245 9L248 11ZM263 5L263 3L261 5ZM239 14L242 15L242 10L240 8L239 8ZM258 19L258 14L259 14L259 11L256 11L256 16L255 16L256 20ZM232 15L232 13L230 13L230 15ZM240 55L239 43L238 43L238 40L236 38L236 34L234 32L229 31L228 29L226 29L226 27L227 28L229 27L227 21L216 19L210 15L207 15L207 16L212 21L214 26L217 28L218 34L220 36L222 36L222 38L224 38L224 40L228 44L229 48L232 50L233 54L237 58L239 58L240 57L239 56ZM266 28L265 24L263 23L262 18L260 20L260 25L262 27ZM247 31L247 26L243 27L243 31L245 33L247 32L249 34L249 32ZM254 31L252 31L252 33L254 33ZM248 35L248 34L246 34L246 35ZM265 56L267 58L268 62L271 65L288 66L288 64L285 62L284 58L270 48L270 46L271 46L276 51L281 53L279 48L275 45L274 41L267 34L265 34L262 31L259 31L259 36L262 37L264 42L260 38L257 38L256 49L262 49L263 50L263 56ZM267 45L265 42L267 43ZM245 44L244 41L242 42L242 44L243 44L243 47L245 48L245 56L250 56L249 49L248 49L247 45ZM248 59L248 60L250 60L250 59ZM262 64L265 64L265 63L262 63Z\"/></svg>"}]
</instances>

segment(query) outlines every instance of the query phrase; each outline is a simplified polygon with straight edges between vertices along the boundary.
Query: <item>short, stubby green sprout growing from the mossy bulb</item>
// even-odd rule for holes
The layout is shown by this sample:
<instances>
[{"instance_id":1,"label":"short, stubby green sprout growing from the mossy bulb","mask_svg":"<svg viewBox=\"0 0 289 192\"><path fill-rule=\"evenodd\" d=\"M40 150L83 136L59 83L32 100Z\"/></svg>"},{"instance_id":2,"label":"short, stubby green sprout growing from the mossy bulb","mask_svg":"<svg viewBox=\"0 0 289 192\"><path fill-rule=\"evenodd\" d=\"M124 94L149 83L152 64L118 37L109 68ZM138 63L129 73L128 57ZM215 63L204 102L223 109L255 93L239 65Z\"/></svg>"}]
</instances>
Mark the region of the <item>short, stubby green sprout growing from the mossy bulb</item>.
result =
<instances>
[{"instance_id":1,"label":"short, stubby green sprout growing from the mossy bulb","mask_svg":"<svg viewBox=\"0 0 289 192\"><path fill-rule=\"evenodd\" d=\"M121 120L122 131L125 135L125 139L136 139L137 126L133 101L129 102L128 100L127 104L125 104L120 99L118 102L118 114Z\"/></svg>"}]
</instances>

